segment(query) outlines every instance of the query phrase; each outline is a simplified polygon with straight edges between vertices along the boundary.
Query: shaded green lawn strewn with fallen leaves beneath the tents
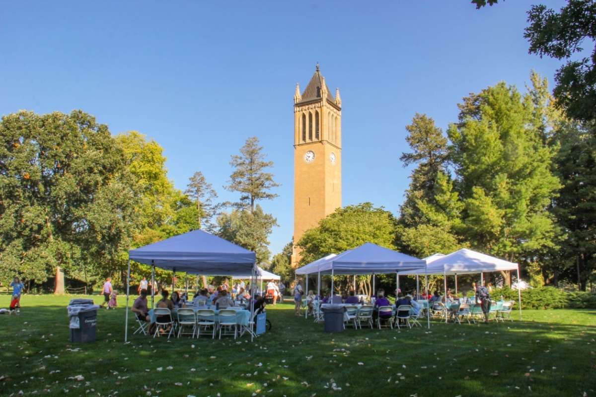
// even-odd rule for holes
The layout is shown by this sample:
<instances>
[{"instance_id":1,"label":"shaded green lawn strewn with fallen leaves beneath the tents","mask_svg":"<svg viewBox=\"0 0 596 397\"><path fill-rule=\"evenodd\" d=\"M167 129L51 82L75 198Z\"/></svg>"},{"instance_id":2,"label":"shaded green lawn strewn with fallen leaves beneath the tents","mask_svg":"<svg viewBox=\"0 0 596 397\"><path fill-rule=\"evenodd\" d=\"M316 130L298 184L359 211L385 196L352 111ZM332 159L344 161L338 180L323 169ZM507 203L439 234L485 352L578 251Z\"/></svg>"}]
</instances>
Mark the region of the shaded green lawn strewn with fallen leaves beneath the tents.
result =
<instances>
[{"instance_id":1,"label":"shaded green lawn strewn with fallen leaves beneath the tents","mask_svg":"<svg viewBox=\"0 0 596 397\"><path fill-rule=\"evenodd\" d=\"M125 344L120 298L100 310L97 342L73 344L73 297L24 295L20 316L0 316L0 395L596 396L594 310L332 335L290 304L269 305L272 331L254 343L135 335Z\"/></svg>"}]
</instances>

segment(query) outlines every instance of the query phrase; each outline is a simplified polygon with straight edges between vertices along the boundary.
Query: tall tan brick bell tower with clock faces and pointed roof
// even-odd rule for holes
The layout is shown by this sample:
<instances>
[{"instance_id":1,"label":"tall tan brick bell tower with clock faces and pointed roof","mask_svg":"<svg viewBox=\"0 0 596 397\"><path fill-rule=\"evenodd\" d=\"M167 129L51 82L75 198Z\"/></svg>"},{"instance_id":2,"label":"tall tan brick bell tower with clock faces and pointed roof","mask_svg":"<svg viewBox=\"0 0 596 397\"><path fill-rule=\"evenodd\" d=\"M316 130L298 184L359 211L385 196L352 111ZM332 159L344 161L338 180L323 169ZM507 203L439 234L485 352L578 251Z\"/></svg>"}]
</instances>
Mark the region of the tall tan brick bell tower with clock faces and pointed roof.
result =
<instances>
[{"instance_id":1,"label":"tall tan brick bell tower with clock faces and pointed roof","mask_svg":"<svg viewBox=\"0 0 596 397\"><path fill-rule=\"evenodd\" d=\"M342 99L325 84L319 64L294 93L294 244L306 230L342 207ZM294 246L291 265L298 266Z\"/></svg>"}]
</instances>

